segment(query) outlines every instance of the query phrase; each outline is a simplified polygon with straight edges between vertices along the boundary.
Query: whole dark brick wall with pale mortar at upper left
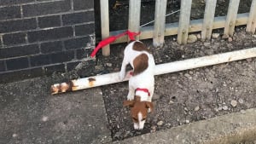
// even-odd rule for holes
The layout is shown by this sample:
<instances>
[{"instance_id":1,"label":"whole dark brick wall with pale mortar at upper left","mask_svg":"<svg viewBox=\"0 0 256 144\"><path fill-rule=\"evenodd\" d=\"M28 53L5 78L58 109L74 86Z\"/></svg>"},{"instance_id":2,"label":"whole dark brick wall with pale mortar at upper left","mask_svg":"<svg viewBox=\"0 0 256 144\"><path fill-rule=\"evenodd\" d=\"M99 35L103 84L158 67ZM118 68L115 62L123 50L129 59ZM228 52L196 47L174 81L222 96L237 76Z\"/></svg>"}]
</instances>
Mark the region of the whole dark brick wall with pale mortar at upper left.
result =
<instances>
[{"instance_id":1,"label":"whole dark brick wall with pale mortar at upper left","mask_svg":"<svg viewBox=\"0 0 256 144\"><path fill-rule=\"evenodd\" d=\"M0 0L0 82L93 65L94 21L94 0Z\"/></svg>"}]
</instances>

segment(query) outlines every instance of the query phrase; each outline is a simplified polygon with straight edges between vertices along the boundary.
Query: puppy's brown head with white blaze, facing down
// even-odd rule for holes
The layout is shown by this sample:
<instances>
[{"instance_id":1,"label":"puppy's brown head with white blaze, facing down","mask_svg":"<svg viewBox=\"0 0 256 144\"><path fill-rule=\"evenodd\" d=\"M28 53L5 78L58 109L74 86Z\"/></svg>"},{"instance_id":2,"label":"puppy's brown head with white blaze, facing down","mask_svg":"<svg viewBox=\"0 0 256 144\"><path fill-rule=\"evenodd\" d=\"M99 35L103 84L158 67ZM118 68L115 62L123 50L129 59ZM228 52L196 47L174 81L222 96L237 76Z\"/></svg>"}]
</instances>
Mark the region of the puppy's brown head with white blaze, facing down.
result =
<instances>
[{"instance_id":1,"label":"puppy's brown head with white blaze, facing down","mask_svg":"<svg viewBox=\"0 0 256 144\"><path fill-rule=\"evenodd\" d=\"M135 100L124 101L125 107L131 107L131 118L133 120L134 129L142 130L148 116L148 112L152 112L154 105L149 101L140 101L139 96L135 96Z\"/></svg>"}]
</instances>

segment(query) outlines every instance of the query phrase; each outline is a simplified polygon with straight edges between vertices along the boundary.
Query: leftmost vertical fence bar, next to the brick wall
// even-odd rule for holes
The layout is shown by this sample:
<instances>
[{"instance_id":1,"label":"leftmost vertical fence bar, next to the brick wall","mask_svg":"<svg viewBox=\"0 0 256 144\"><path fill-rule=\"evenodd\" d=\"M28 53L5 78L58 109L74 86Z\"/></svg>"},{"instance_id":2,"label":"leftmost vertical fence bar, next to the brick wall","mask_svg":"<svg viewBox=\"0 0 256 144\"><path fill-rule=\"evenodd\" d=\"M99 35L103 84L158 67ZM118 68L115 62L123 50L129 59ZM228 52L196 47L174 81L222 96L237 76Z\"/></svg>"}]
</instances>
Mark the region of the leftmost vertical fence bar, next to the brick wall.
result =
<instances>
[{"instance_id":1,"label":"leftmost vertical fence bar, next to the brick wall","mask_svg":"<svg viewBox=\"0 0 256 144\"><path fill-rule=\"evenodd\" d=\"M108 1L101 0L101 25L102 25L102 39L109 37L109 15L108 15ZM102 48L102 55L110 55L109 44Z\"/></svg>"}]
</instances>

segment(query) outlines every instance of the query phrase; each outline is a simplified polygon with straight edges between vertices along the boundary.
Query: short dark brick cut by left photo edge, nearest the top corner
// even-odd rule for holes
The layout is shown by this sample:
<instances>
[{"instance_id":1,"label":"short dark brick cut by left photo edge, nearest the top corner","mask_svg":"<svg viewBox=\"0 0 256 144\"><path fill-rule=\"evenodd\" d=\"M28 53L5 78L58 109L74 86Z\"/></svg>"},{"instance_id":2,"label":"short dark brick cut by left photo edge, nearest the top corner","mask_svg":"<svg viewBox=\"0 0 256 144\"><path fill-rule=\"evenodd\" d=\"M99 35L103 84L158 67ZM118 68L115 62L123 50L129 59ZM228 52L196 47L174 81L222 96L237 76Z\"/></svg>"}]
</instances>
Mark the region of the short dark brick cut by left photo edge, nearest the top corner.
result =
<instances>
[{"instance_id":1,"label":"short dark brick cut by left photo edge, nearest the top corner","mask_svg":"<svg viewBox=\"0 0 256 144\"><path fill-rule=\"evenodd\" d=\"M20 7L3 7L0 8L0 20L20 18Z\"/></svg>"}]
</instances>

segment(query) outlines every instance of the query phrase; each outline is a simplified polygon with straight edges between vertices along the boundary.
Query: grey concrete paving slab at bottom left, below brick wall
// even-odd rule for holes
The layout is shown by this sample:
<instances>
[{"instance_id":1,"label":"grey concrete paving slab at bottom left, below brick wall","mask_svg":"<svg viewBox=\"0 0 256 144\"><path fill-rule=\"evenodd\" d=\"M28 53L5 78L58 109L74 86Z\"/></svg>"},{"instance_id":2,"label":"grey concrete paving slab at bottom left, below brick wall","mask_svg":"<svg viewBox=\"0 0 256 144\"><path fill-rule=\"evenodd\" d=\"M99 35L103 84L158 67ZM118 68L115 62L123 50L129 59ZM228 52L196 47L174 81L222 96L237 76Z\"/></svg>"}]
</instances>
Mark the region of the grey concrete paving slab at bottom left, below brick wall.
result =
<instances>
[{"instance_id":1,"label":"grey concrete paving slab at bottom left, below brick wall","mask_svg":"<svg viewBox=\"0 0 256 144\"><path fill-rule=\"evenodd\" d=\"M99 88L50 95L51 79L0 85L0 143L111 141Z\"/></svg>"}]
</instances>

